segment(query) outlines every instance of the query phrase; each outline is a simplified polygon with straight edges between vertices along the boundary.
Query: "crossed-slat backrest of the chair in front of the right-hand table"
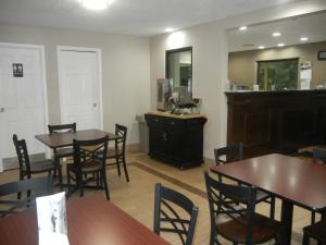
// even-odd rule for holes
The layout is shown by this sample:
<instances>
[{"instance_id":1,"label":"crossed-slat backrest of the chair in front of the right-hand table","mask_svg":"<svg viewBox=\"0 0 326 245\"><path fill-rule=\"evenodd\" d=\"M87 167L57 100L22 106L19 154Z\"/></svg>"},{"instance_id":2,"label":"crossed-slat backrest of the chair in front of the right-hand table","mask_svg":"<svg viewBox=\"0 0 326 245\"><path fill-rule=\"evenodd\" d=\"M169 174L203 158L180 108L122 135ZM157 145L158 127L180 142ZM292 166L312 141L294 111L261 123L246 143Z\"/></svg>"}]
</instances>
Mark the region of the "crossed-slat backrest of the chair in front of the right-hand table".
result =
<instances>
[{"instance_id":1,"label":"crossed-slat backrest of the chair in front of the right-hand table","mask_svg":"<svg viewBox=\"0 0 326 245\"><path fill-rule=\"evenodd\" d=\"M256 189L250 186L224 184L204 172L210 206L211 229L218 234L218 223L236 220L247 230L246 244L252 244L252 226L255 208ZM246 200L247 206L237 205L237 200ZM233 228L230 228L233 229ZM215 240L217 240L215 237ZM215 241L218 244L217 241Z\"/></svg>"}]
</instances>

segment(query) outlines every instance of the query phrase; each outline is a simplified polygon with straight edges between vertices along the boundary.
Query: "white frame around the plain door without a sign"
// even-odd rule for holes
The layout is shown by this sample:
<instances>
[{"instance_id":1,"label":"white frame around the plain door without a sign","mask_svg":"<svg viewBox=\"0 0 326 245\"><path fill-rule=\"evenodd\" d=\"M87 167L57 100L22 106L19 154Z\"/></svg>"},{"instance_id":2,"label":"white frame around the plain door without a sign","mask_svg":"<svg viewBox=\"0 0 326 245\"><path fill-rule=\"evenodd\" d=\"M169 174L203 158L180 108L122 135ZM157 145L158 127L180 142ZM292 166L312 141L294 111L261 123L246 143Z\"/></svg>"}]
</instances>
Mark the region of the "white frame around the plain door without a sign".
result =
<instances>
[{"instance_id":1,"label":"white frame around the plain door without a sign","mask_svg":"<svg viewBox=\"0 0 326 245\"><path fill-rule=\"evenodd\" d=\"M87 48L87 47L74 47L74 46L57 46L57 57L58 57L58 79L59 79L59 98L60 98L60 118L61 123L63 122L63 97L62 91L64 89L63 74L61 60L62 51L77 51L77 52L95 52L97 56L97 73L99 83L99 111L100 111L100 130L103 130L103 90L102 90L102 51L100 48Z\"/></svg>"}]
</instances>

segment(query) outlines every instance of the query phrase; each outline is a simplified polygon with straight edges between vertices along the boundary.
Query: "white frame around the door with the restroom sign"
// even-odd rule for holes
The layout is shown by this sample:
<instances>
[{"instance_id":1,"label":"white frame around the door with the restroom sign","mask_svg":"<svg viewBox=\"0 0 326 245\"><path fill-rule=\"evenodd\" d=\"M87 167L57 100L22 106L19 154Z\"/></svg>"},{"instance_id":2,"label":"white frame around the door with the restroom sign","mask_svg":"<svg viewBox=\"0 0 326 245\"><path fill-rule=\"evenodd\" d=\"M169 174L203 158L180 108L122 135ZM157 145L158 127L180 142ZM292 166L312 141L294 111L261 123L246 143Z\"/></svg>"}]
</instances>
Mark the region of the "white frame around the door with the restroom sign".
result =
<instances>
[{"instance_id":1,"label":"white frame around the door with the restroom sign","mask_svg":"<svg viewBox=\"0 0 326 245\"><path fill-rule=\"evenodd\" d=\"M42 101L43 101L43 132L46 133L49 124L49 110L48 110L48 86L47 86L47 69L46 69L46 54L43 45L30 45L30 44L16 44L16 42L0 42L1 48L25 48L25 49L36 49L40 54L40 79L42 86ZM37 139L35 139L37 140ZM49 150L45 146L45 151L49 155ZM0 151L0 172L3 172L2 156Z\"/></svg>"}]
</instances>

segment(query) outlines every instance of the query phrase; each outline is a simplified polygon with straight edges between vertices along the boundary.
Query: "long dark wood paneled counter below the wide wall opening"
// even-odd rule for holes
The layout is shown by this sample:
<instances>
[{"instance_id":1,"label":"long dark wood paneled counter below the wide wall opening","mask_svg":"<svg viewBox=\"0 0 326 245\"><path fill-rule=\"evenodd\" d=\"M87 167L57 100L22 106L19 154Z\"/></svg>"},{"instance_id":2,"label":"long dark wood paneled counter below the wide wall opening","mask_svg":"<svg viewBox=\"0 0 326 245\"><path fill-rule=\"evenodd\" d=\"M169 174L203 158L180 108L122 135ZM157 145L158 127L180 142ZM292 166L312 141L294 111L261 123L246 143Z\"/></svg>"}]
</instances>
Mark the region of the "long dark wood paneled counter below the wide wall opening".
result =
<instances>
[{"instance_id":1,"label":"long dark wood paneled counter below the wide wall opening","mask_svg":"<svg viewBox=\"0 0 326 245\"><path fill-rule=\"evenodd\" d=\"M326 144L326 90L226 91L227 144L244 157Z\"/></svg>"}]
</instances>

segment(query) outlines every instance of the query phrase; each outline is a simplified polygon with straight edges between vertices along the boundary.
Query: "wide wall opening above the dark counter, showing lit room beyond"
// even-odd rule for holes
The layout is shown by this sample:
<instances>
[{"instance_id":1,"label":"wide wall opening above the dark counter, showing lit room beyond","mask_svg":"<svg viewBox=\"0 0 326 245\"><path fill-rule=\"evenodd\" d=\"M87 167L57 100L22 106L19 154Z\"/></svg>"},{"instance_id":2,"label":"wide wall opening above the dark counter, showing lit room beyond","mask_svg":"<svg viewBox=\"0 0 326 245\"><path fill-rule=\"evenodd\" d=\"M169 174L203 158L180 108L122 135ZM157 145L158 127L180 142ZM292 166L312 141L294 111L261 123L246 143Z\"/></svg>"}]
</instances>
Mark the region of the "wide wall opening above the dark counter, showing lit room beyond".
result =
<instances>
[{"instance_id":1,"label":"wide wall opening above the dark counter, showing lit room beyond","mask_svg":"<svg viewBox=\"0 0 326 245\"><path fill-rule=\"evenodd\" d=\"M229 29L228 89L326 89L324 23L322 12Z\"/></svg>"}]
</instances>

